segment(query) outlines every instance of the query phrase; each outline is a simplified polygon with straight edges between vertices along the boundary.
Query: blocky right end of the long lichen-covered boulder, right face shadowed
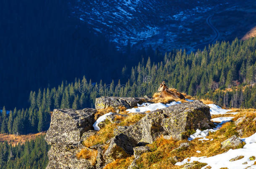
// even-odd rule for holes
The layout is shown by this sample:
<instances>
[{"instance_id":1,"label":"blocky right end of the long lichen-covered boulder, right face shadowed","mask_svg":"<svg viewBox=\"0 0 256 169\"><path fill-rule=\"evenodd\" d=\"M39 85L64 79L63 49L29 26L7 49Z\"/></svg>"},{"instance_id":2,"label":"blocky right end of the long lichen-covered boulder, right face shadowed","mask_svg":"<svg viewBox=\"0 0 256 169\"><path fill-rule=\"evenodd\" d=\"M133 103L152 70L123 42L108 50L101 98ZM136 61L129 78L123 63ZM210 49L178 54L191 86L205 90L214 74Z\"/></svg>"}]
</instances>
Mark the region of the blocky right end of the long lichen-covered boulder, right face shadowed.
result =
<instances>
[{"instance_id":1,"label":"blocky right end of the long lichen-covered boulder, right face shadowed","mask_svg":"<svg viewBox=\"0 0 256 169\"><path fill-rule=\"evenodd\" d=\"M211 129L213 126L209 106L201 101L183 103L162 109L165 118L162 126L165 131L177 139L183 139L183 133L188 129Z\"/></svg>"}]
</instances>

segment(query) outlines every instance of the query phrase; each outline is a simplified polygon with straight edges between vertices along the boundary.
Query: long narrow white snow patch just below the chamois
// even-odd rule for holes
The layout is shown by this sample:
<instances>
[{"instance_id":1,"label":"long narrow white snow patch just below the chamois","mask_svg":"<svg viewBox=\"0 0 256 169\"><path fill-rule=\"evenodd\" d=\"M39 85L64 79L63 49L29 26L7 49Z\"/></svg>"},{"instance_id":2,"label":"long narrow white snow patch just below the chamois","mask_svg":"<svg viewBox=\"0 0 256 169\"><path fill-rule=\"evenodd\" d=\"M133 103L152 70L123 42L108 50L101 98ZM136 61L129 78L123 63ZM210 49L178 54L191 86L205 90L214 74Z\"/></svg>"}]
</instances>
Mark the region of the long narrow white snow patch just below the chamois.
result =
<instances>
[{"instance_id":1,"label":"long narrow white snow patch just below the chamois","mask_svg":"<svg viewBox=\"0 0 256 169\"><path fill-rule=\"evenodd\" d=\"M161 108L167 108L173 106L175 104L180 104L181 102L173 101L171 103L163 104L163 103L142 103L141 105L138 104L138 108L129 108L126 111L128 113L139 113L139 112L146 112L146 111L154 111Z\"/></svg>"}]
</instances>

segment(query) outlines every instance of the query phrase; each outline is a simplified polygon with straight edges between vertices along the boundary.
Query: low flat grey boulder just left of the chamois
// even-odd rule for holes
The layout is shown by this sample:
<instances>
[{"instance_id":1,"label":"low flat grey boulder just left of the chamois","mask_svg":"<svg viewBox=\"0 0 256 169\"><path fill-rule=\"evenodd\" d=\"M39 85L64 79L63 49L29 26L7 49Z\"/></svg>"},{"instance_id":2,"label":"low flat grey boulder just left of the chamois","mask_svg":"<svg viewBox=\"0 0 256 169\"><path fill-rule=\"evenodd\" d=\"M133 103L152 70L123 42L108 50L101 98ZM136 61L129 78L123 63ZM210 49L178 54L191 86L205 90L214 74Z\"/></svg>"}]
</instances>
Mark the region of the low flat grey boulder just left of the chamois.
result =
<instances>
[{"instance_id":1,"label":"low flat grey boulder just left of the chamois","mask_svg":"<svg viewBox=\"0 0 256 169\"><path fill-rule=\"evenodd\" d=\"M133 108L137 106L137 104L141 104L144 102L150 102L152 98L148 96L144 97L100 97L95 100L95 108L116 108L119 106L124 106L125 108Z\"/></svg>"}]
</instances>

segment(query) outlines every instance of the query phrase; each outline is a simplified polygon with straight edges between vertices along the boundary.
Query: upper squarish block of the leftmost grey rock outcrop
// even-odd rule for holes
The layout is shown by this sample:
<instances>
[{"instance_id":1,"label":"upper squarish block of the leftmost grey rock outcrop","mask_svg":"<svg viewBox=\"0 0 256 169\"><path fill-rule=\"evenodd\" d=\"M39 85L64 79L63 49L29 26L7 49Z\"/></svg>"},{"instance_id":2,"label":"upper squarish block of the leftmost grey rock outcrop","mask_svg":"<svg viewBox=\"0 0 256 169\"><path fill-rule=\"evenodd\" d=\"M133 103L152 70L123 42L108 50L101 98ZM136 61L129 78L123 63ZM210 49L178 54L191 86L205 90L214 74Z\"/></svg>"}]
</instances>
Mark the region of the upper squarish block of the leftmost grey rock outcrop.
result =
<instances>
[{"instance_id":1,"label":"upper squarish block of the leftmost grey rock outcrop","mask_svg":"<svg viewBox=\"0 0 256 169\"><path fill-rule=\"evenodd\" d=\"M55 109L45 140L48 144L78 144L85 131L92 129L97 110Z\"/></svg>"}]
</instances>

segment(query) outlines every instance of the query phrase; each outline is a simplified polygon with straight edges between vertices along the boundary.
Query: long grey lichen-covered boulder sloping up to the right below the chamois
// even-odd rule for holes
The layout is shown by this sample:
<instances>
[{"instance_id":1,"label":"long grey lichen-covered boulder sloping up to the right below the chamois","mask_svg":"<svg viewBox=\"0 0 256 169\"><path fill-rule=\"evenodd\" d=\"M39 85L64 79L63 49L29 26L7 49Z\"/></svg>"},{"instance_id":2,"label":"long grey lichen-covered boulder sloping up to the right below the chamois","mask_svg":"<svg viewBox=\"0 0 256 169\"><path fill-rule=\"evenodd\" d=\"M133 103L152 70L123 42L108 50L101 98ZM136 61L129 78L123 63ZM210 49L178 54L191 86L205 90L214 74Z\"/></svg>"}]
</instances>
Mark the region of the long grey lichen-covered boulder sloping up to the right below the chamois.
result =
<instances>
[{"instance_id":1,"label":"long grey lichen-covered boulder sloping up to the right below the chamois","mask_svg":"<svg viewBox=\"0 0 256 169\"><path fill-rule=\"evenodd\" d=\"M137 144L137 146L152 144L161 135L182 139L185 131L210 129L213 125L210 119L209 106L200 101L182 103L150 112L116 137L128 139L129 142ZM132 153L131 147L127 149L127 146L119 146L129 154Z\"/></svg>"}]
</instances>

